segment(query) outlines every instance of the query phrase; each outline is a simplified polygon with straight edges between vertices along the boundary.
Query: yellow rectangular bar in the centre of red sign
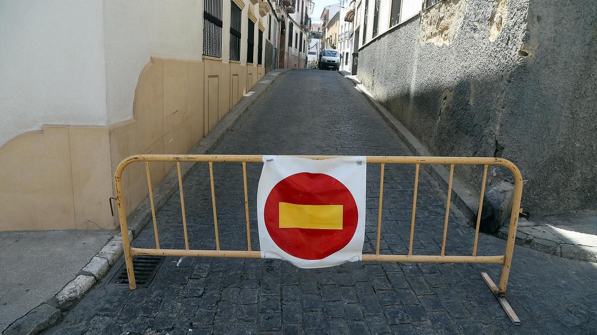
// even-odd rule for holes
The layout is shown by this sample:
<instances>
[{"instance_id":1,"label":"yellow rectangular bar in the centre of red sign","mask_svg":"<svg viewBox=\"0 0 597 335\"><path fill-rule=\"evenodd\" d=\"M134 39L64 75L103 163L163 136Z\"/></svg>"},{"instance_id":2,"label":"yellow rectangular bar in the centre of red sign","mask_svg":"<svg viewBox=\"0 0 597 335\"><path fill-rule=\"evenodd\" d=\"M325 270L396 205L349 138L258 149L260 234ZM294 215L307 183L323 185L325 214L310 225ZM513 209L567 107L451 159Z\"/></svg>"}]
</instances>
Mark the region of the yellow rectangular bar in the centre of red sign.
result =
<instances>
[{"instance_id":1,"label":"yellow rectangular bar in the centre of red sign","mask_svg":"<svg viewBox=\"0 0 597 335\"><path fill-rule=\"evenodd\" d=\"M342 229L341 204L279 203L280 228Z\"/></svg>"}]
</instances>

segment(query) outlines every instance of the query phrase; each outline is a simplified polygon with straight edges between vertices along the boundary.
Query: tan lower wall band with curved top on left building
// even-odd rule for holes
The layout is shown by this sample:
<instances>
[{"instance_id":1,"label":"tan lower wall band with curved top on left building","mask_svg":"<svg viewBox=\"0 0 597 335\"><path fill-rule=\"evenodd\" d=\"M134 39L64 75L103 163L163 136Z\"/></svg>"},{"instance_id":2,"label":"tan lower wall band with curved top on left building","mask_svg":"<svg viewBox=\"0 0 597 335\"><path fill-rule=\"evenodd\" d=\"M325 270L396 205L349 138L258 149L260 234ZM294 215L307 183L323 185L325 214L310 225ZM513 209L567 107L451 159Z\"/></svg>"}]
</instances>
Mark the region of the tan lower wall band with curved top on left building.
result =
<instances>
[{"instance_id":1,"label":"tan lower wall band with curved top on left building","mask_svg":"<svg viewBox=\"0 0 597 335\"><path fill-rule=\"evenodd\" d=\"M263 66L152 57L133 119L110 126L47 125L0 147L0 231L113 229L109 197L124 157L187 153L265 75ZM131 88L133 89L133 88ZM173 163L150 163L152 184ZM125 206L147 197L145 166L125 169Z\"/></svg>"}]
</instances>

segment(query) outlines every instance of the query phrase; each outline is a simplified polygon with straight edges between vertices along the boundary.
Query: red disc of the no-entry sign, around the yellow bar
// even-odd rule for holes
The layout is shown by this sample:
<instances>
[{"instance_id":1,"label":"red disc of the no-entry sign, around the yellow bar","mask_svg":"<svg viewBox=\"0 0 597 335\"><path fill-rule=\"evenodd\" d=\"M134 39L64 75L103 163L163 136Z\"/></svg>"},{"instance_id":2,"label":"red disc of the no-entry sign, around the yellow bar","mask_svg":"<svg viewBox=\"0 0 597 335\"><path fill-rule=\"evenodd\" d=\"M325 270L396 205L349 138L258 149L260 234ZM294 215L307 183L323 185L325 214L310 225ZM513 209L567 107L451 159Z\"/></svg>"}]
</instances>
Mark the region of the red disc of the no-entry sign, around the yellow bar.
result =
<instances>
[{"instance_id":1,"label":"red disc of the no-entry sign, around the yellow bar","mask_svg":"<svg viewBox=\"0 0 597 335\"><path fill-rule=\"evenodd\" d=\"M342 205L342 229L280 228L279 203ZM336 178L324 173L301 172L278 182L264 208L270 237L284 252L301 259L323 259L352 240L359 221L355 198Z\"/></svg>"}]
</instances>

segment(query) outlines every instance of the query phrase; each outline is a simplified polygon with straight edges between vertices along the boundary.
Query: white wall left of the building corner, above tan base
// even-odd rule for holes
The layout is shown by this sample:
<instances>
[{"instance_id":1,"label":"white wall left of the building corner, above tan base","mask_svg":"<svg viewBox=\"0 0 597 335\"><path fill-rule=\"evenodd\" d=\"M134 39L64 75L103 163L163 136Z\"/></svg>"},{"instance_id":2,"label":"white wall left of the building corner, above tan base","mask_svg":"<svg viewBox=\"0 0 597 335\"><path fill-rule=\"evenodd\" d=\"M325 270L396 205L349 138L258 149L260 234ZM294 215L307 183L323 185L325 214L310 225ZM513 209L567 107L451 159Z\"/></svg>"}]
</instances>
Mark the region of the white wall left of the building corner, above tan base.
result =
<instances>
[{"instance_id":1,"label":"white wall left of the building corner, above tan base","mask_svg":"<svg viewBox=\"0 0 597 335\"><path fill-rule=\"evenodd\" d=\"M99 1L0 1L0 147L44 124L106 125L101 17Z\"/></svg>"}]
</instances>

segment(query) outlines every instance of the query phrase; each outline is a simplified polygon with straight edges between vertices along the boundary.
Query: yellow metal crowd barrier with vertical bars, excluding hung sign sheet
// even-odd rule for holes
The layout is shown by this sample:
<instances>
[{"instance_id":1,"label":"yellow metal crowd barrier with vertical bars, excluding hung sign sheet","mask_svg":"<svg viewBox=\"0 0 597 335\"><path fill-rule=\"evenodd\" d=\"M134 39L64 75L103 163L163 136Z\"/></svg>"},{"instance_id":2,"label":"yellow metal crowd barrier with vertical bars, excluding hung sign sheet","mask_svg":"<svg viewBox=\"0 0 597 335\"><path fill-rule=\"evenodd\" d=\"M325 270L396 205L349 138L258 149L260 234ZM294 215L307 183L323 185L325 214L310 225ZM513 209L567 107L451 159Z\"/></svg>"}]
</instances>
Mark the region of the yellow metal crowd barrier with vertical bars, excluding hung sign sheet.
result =
<instances>
[{"instance_id":1,"label":"yellow metal crowd barrier with vertical bars, excluding hung sign sheet","mask_svg":"<svg viewBox=\"0 0 597 335\"><path fill-rule=\"evenodd\" d=\"M249 229L249 207L248 207L248 193L247 193L247 162L262 162L261 155L171 155L171 154L143 154L137 156L130 156L122 160L115 172L116 182L116 200L118 203L118 216L120 220L120 228L122 232L122 243L124 247L124 257L127 266L128 280L130 289L136 289L135 275L133 271L133 256L201 256L201 257L220 257L220 258L261 258L259 251L251 250L251 232ZM309 159L330 159L338 156L300 156ZM124 199L122 194L122 172L133 162L144 162L147 173L147 186L149 188L149 200L152 209L153 231L155 233L155 249L148 248L134 248L130 246L128 240L127 215L124 207ZM176 162L179 190L180 190L180 209L183 217L183 231L184 231L184 249L160 249L158 227L155 217L155 206L153 203L153 191L151 185L151 177L149 174L149 162ZM214 216L214 229L216 232L216 250L191 250L189 249L189 238L187 237L186 213L184 210L184 194L183 182L180 172L180 162L208 162L210 168L210 184L211 184L211 201ZM242 178L245 194L245 216L247 219L247 250L220 250L220 239L218 232L218 221L216 212L216 195L214 190L214 162L241 162L242 163ZM379 164L380 171L380 191L379 191L379 209L377 216L377 243L375 254L362 255L363 261L375 262L436 262L436 263L497 263L502 264L500 285L496 286L493 280L482 272L481 277L490 287L491 291L496 295L501 306L506 311L510 320L515 324L520 324L519 318L516 316L509 303L504 298L506 293L506 285L510 274L510 265L512 263L512 253L514 251L514 244L516 238L516 226L518 225L518 214L521 212L521 197L522 197L522 175L520 170L512 162L506 159L493 157L416 157L416 156L367 156L367 163ZM386 164L414 164L415 178L414 178L414 196L413 208L411 212L411 229L410 229L410 243L408 246L407 255L380 255L380 238L381 238L381 209L383 206L383 179L384 169ZM438 164L450 165L450 178L448 181L448 199L446 204L446 212L444 219L444 235L442 238L441 255L413 255L413 237L415 227L415 216L417 210L417 189L418 189L418 173L420 165ZM451 256L445 255L446 235L448 232L448 218L450 216L450 201L452 193L452 181L454 177L454 165L482 165L483 179L481 182L481 192L479 196L479 210L475 225L475 239L473 241L472 255L470 256ZM514 196L512 203L512 212L510 213L510 226L506 242L506 250L504 255L495 256L478 256L477 244L479 238L479 223L481 222L481 212L483 197L485 194L485 182L487 181L487 169L490 165L504 166L512 172L514 179Z\"/></svg>"}]
</instances>

